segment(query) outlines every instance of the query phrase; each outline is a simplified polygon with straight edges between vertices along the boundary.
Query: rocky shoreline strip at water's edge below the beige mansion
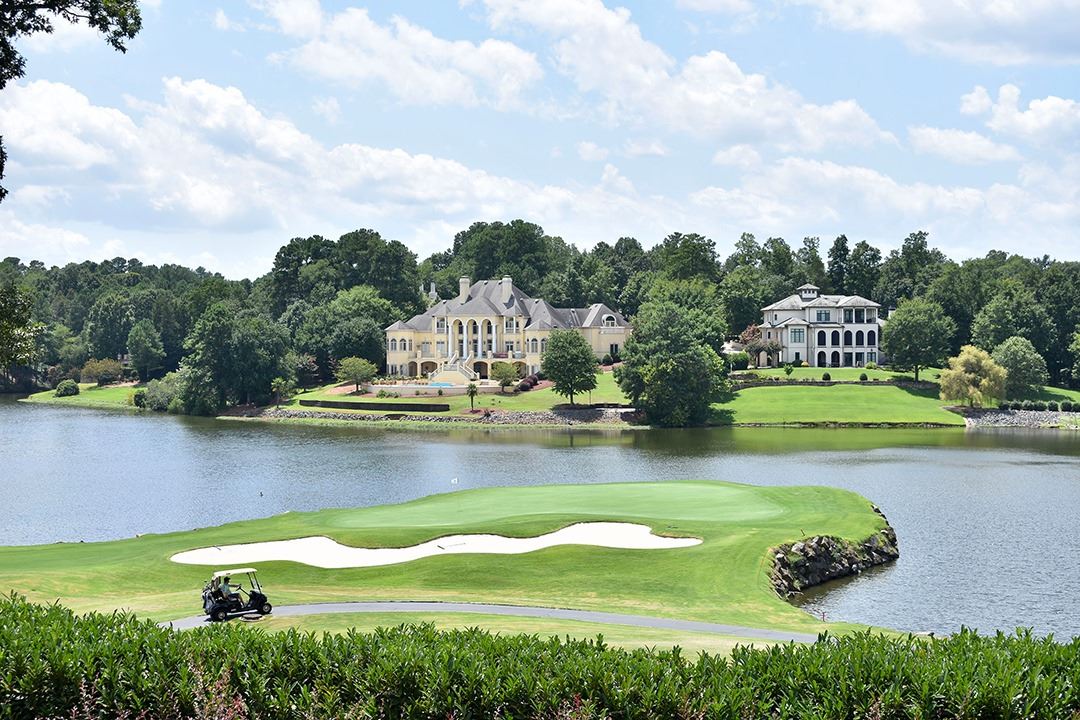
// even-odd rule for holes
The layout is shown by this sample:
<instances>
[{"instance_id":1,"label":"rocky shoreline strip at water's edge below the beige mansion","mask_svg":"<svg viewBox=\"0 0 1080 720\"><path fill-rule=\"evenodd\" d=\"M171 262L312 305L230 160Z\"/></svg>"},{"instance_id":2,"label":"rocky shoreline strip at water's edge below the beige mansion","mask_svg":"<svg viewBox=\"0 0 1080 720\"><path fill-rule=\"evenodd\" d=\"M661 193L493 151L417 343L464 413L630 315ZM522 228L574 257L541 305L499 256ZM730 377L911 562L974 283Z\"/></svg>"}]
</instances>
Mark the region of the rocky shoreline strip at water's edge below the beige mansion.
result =
<instances>
[{"instance_id":1,"label":"rocky shoreline strip at water's edge below the beige mansion","mask_svg":"<svg viewBox=\"0 0 1080 720\"><path fill-rule=\"evenodd\" d=\"M636 411L625 408L580 408L559 410L496 410L475 415L419 415L404 412L333 412L265 408L244 417L271 420L347 420L352 422L426 422L470 425L626 425L640 421Z\"/></svg>"}]
</instances>

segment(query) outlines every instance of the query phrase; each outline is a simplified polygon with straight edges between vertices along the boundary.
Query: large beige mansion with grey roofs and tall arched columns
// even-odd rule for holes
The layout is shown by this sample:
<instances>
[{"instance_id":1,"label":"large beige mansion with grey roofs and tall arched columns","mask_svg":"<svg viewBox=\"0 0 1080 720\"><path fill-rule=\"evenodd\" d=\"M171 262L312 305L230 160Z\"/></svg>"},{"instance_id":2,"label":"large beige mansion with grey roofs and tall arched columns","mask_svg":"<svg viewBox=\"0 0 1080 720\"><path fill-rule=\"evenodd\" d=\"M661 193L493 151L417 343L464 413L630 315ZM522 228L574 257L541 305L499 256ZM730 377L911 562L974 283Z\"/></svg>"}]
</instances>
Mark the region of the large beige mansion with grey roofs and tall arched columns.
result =
<instances>
[{"instance_id":1,"label":"large beige mansion with grey roofs and tall arched columns","mask_svg":"<svg viewBox=\"0 0 1080 720\"><path fill-rule=\"evenodd\" d=\"M447 373L465 380L487 378L491 365L511 363L519 375L540 371L540 356L554 329L581 332L596 357L616 355L630 336L621 314L603 303L553 308L530 298L509 276L458 282L458 297L434 302L427 312L387 328L387 371L405 377Z\"/></svg>"}]
</instances>

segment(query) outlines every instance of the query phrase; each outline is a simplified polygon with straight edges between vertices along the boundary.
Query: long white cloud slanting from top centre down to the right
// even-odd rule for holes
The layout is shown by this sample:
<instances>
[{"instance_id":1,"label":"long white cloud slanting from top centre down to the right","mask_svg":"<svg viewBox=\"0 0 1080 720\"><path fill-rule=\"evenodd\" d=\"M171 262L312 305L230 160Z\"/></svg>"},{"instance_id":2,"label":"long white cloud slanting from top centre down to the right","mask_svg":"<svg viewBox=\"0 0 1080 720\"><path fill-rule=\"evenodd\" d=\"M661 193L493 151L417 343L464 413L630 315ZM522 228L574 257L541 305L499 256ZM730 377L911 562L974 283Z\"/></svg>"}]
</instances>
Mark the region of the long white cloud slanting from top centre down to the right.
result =
<instances>
[{"instance_id":1,"label":"long white cloud slanting from top centre down to the right","mask_svg":"<svg viewBox=\"0 0 1080 720\"><path fill-rule=\"evenodd\" d=\"M482 0L497 29L525 26L553 38L554 62L578 91L597 95L611 123L649 121L669 130L783 149L894 141L854 100L806 101L718 51L681 66L642 36L630 11L600 0Z\"/></svg>"}]
</instances>

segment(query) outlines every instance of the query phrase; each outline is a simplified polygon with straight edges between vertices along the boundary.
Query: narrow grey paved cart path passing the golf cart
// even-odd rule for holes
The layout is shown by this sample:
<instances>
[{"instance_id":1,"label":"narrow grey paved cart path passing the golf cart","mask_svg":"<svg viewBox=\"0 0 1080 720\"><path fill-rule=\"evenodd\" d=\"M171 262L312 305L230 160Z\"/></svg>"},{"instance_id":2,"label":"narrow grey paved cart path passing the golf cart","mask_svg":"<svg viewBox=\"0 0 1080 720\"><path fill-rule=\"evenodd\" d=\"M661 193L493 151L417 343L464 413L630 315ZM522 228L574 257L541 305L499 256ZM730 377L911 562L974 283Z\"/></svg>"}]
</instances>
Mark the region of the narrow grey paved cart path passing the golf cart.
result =
<instances>
[{"instance_id":1,"label":"narrow grey paved cart path passing the golf cart","mask_svg":"<svg viewBox=\"0 0 1080 720\"><path fill-rule=\"evenodd\" d=\"M813 642L816 635L809 633L789 633L770 630L742 625L724 625L720 623L703 623L696 620L676 620L674 617L653 617L649 615L625 615L616 612L599 612L595 610L568 610L565 608L538 608L517 604L483 604L478 602L421 602L421 601L383 601L383 602L313 602L309 604L291 604L275 607L273 614L280 617L296 617L299 615L321 615L324 613L346 612L415 612L443 613L462 612L484 615L509 615L518 617L542 617L548 620L572 620L600 625L630 625L633 627L649 627L663 630L681 630L689 633L716 633L738 638L754 640L772 640L779 642ZM172 622L159 623L162 627L187 630L193 627L208 625L205 615L183 617Z\"/></svg>"}]
</instances>

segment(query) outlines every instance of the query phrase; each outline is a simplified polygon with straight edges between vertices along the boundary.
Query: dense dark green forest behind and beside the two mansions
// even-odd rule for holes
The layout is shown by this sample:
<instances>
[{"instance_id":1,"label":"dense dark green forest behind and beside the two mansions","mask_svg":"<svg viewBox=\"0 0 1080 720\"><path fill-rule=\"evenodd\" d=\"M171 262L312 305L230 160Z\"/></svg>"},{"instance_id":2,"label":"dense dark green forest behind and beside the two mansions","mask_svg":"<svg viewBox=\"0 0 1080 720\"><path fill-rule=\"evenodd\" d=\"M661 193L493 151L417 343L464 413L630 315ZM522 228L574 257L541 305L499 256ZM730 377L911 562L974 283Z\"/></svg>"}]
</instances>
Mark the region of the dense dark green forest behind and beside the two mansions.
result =
<instances>
[{"instance_id":1,"label":"dense dark green forest behind and beside the two mansions","mask_svg":"<svg viewBox=\"0 0 1080 720\"><path fill-rule=\"evenodd\" d=\"M843 235L793 246L744 234L721 257L713 240L677 232L649 249L620 237L580 250L513 220L476 222L423 260L374 230L336 241L296 237L278 250L269 273L242 281L134 258L52 268L6 258L0 314L11 321L12 308L22 305L37 345L32 357L3 358L11 364L6 382L55 386L123 371L143 380L173 373L161 402L183 395L177 411L266 403L274 378L301 386L327 381L337 361L350 356L382 367L382 328L424 308L421 286L434 283L451 297L461 275L512 275L555 305L605 302L631 317L650 303L674 304L691 318L688 331L715 350L758 322L761 307L807 282L823 293L868 297L886 313L918 297L955 322L951 353L968 343L993 350L1021 336L1045 358L1053 382L1080 379L1080 262L997 250L958 261L924 232L888 254ZM130 356L126 369L112 359L120 355Z\"/></svg>"}]
</instances>

